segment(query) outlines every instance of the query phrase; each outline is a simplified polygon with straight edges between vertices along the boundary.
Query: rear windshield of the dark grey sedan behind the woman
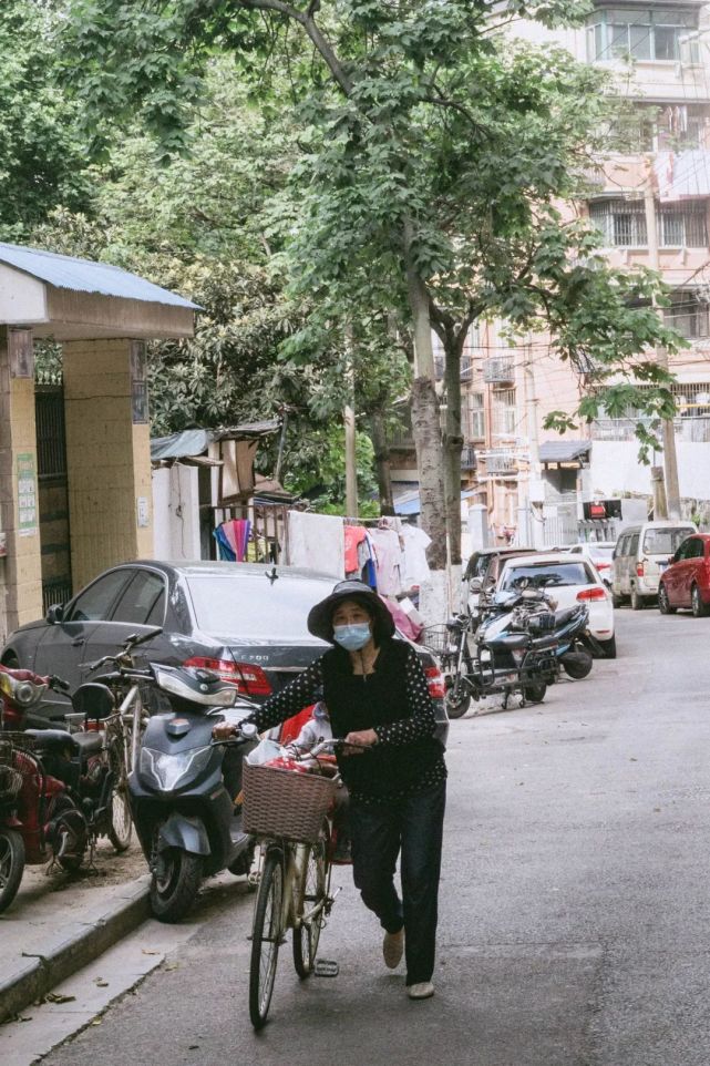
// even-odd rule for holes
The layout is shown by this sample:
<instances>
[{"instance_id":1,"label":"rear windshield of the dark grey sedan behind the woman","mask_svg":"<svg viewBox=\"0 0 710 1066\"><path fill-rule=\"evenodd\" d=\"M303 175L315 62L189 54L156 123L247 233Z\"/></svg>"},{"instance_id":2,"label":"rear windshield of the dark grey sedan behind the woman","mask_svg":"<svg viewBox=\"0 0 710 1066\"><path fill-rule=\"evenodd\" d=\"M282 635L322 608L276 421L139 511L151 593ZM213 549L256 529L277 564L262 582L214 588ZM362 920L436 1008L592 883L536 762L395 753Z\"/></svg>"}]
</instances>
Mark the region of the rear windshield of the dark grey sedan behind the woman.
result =
<instances>
[{"instance_id":1,"label":"rear windshield of the dark grey sedan behind the woman","mask_svg":"<svg viewBox=\"0 0 710 1066\"><path fill-rule=\"evenodd\" d=\"M197 627L205 633L272 640L309 640L308 612L331 591L329 582L261 574L189 577Z\"/></svg>"}]
</instances>

